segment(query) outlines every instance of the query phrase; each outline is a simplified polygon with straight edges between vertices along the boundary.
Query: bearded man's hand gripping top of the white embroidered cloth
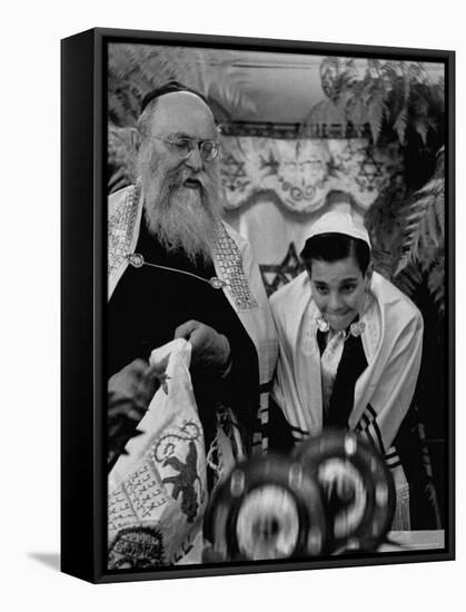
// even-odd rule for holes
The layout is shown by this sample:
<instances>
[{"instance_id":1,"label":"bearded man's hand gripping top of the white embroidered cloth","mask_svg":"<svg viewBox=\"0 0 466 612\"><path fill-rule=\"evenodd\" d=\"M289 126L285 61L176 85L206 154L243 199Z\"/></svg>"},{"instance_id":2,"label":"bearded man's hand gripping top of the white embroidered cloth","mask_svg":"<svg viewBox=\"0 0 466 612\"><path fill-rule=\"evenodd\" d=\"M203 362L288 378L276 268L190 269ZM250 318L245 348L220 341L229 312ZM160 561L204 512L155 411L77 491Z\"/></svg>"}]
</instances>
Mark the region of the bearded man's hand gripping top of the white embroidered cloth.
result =
<instances>
[{"instance_id":1,"label":"bearded man's hand gripping top of the white embroidered cloth","mask_svg":"<svg viewBox=\"0 0 466 612\"><path fill-rule=\"evenodd\" d=\"M212 327L188 320L177 327L175 338L185 338L192 345L191 364L195 367L211 368L225 376L230 365L230 343Z\"/></svg>"}]
</instances>

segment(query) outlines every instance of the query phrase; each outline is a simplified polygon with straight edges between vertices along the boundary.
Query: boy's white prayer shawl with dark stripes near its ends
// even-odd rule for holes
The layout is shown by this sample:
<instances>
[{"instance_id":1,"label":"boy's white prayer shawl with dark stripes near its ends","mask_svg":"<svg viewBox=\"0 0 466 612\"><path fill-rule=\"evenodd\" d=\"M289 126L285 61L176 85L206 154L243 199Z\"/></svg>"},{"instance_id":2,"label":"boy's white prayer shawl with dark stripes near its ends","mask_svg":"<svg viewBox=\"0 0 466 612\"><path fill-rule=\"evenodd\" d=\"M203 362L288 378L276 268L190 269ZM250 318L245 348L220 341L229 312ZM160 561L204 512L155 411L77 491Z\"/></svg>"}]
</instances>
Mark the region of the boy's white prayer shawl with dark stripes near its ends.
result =
<instances>
[{"instance_id":1,"label":"boy's white prayer shawl with dark stripes near its ends","mask_svg":"<svg viewBox=\"0 0 466 612\"><path fill-rule=\"evenodd\" d=\"M416 387L423 318L416 306L377 273L373 275L370 292L375 299L360 317L365 324L361 342L368 365L356 381L348 426L360 431L385 456L397 487L398 511L406 516L408 491L393 441ZM295 442L299 442L323 427L319 310L307 272L275 293L270 304L279 343L272 395L284 411Z\"/></svg>"}]
</instances>

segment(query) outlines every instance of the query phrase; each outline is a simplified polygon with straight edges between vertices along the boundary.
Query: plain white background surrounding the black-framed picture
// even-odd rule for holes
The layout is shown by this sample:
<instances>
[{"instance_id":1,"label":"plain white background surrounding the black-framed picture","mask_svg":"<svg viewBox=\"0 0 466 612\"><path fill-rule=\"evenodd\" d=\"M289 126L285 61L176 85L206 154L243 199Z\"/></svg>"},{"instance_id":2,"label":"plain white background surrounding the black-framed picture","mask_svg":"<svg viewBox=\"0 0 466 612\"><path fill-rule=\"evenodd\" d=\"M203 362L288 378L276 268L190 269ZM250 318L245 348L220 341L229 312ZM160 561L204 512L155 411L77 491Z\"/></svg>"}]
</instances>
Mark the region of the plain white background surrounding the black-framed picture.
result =
<instances>
[{"instance_id":1,"label":"plain white background surrounding the black-framed picture","mask_svg":"<svg viewBox=\"0 0 466 612\"><path fill-rule=\"evenodd\" d=\"M457 388L457 562L92 586L59 574L59 40L99 26L457 51L457 168L466 165L459 3L177 0L8 3L2 23L2 594L9 610L438 611L464 599L464 375ZM457 236L466 230L457 172ZM457 268L466 261L457 244ZM463 276L463 278L462 278ZM464 275L457 313L464 312ZM459 316L458 316L459 318ZM457 334L457 372L465 368ZM4 342L6 340L6 342Z\"/></svg>"}]
</instances>

